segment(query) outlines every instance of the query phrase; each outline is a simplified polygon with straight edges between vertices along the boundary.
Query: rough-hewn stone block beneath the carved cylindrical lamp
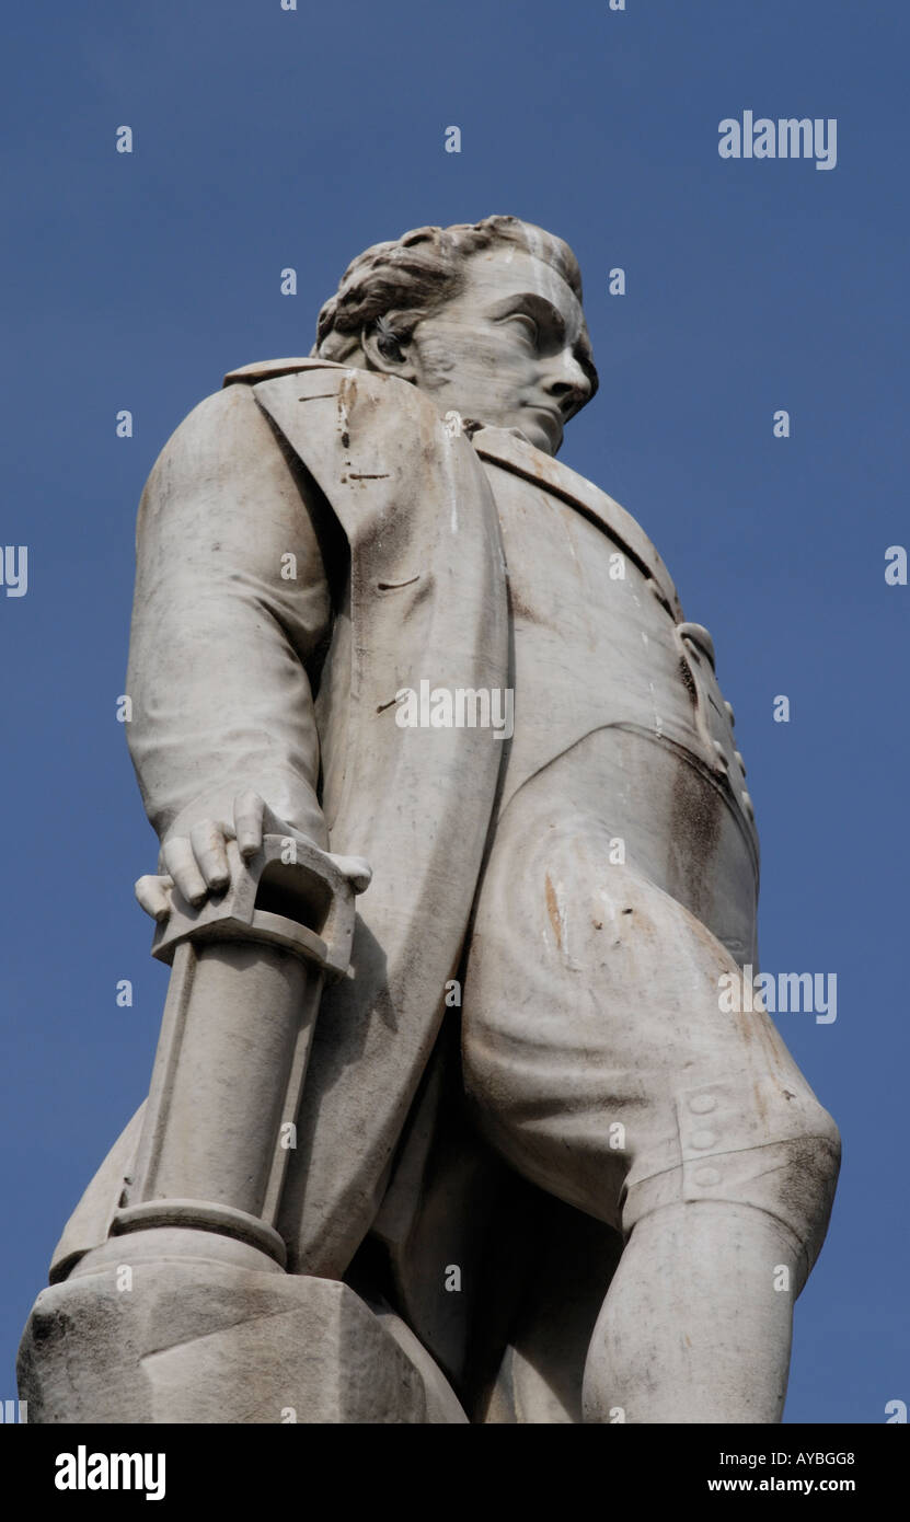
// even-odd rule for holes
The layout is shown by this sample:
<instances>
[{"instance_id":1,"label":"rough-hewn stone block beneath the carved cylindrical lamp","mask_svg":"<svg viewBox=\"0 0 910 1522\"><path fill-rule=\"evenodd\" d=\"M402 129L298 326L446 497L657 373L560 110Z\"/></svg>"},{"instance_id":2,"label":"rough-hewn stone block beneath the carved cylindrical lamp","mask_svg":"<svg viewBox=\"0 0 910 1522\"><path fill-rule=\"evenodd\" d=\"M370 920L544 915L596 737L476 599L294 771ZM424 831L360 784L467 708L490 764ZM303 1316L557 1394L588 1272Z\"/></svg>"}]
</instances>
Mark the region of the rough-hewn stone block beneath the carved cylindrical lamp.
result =
<instances>
[{"instance_id":1,"label":"rough-hewn stone block beneath the carved cylindrical lamp","mask_svg":"<svg viewBox=\"0 0 910 1522\"><path fill-rule=\"evenodd\" d=\"M335 1280L137 1263L129 1289L110 1268L38 1297L20 1387L44 1423L458 1420L429 1362L428 1402L399 1339Z\"/></svg>"}]
</instances>

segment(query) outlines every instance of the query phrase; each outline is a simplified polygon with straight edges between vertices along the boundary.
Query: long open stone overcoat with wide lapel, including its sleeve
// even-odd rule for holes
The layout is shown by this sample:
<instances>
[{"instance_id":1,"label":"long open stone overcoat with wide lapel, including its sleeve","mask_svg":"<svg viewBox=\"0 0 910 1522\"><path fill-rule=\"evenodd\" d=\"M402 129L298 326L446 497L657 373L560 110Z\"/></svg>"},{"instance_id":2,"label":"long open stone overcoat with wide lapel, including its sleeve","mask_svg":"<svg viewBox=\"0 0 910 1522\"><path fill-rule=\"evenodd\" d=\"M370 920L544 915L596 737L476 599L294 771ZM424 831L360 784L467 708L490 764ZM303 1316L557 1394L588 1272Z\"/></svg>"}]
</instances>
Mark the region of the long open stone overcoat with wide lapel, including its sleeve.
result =
<instances>
[{"instance_id":1,"label":"long open stone overcoat with wide lapel, including its sleeve","mask_svg":"<svg viewBox=\"0 0 910 1522\"><path fill-rule=\"evenodd\" d=\"M248 365L225 387L177 429L143 493L131 752L149 819L166 834L205 787L256 788L280 814L315 724L330 848L373 866L353 977L323 997L278 1222L294 1271L338 1277L376 1218L437 1041L502 759L492 729L400 728L396 693L422 679L508 686L505 566L469 438L414 387L321 359ZM350 554L315 703L283 616L307 589L277 578L294 549L301 466ZM164 665L175 621L186 635L196 607L201 648L189 644L177 659L170 650ZM237 691L231 650L253 648L248 691ZM231 712L233 702L245 712ZM278 798L257 775L247 706L268 752L263 773L280 773ZM289 822L306 823L306 805ZM105 1239L140 1123L142 1111L70 1218L52 1278Z\"/></svg>"}]
</instances>

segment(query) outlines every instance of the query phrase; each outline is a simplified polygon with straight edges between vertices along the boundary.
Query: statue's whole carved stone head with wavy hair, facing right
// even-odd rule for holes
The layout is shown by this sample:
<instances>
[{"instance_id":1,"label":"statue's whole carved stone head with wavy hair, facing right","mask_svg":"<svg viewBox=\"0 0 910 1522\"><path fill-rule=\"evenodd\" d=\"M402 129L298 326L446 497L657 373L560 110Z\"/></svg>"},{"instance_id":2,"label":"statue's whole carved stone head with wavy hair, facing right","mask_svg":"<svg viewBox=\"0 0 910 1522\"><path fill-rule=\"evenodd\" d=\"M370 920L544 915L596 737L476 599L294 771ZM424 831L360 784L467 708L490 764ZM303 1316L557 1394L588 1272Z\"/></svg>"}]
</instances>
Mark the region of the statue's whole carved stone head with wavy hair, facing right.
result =
<instances>
[{"instance_id":1,"label":"statue's whole carved stone head with wavy hair, facing right","mask_svg":"<svg viewBox=\"0 0 910 1522\"><path fill-rule=\"evenodd\" d=\"M374 244L320 312L313 355L396 374L546 454L598 385L575 256L516 216Z\"/></svg>"}]
</instances>

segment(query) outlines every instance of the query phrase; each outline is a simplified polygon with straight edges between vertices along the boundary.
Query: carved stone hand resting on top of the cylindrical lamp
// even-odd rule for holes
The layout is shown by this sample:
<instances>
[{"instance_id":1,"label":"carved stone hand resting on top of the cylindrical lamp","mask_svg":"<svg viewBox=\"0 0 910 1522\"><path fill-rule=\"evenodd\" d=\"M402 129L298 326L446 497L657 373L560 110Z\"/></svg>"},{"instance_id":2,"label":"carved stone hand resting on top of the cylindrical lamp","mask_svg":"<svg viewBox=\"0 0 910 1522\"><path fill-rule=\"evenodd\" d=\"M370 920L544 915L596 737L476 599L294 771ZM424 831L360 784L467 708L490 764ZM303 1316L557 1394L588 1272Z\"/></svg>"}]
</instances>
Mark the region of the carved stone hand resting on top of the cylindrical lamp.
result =
<instances>
[{"instance_id":1,"label":"carved stone hand resting on top of the cylindrical lamp","mask_svg":"<svg viewBox=\"0 0 910 1522\"><path fill-rule=\"evenodd\" d=\"M224 817L230 813L230 817ZM253 790L237 793L233 808L195 810L195 822L175 820L172 831L161 842L158 875L140 877L135 896L152 919L166 919L170 913L170 889L177 884L183 896L196 909L208 893L222 893L231 880L227 842L236 840L242 857L256 855L262 848L263 833L288 836L292 840L307 839L286 825L272 813L263 798Z\"/></svg>"}]
</instances>

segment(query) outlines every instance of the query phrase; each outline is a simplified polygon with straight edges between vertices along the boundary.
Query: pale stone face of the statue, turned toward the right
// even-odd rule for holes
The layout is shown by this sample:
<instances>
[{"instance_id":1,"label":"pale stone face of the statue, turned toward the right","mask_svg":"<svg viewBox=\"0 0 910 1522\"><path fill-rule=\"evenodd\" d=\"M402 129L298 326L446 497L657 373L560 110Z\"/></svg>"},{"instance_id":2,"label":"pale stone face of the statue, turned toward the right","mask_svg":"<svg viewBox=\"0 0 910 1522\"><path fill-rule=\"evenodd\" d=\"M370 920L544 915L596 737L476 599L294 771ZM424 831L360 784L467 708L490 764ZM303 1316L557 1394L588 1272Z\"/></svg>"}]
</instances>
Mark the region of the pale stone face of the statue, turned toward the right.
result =
<instances>
[{"instance_id":1,"label":"pale stone face of the statue, turned toward the right","mask_svg":"<svg viewBox=\"0 0 910 1522\"><path fill-rule=\"evenodd\" d=\"M412 380L440 412L519 428L548 455L593 390L581 304L551 265L511 244L472 254L460 294L423 318L399 355L403 364L387 355L382 368Z\"/></svg>"}]
</instances>

